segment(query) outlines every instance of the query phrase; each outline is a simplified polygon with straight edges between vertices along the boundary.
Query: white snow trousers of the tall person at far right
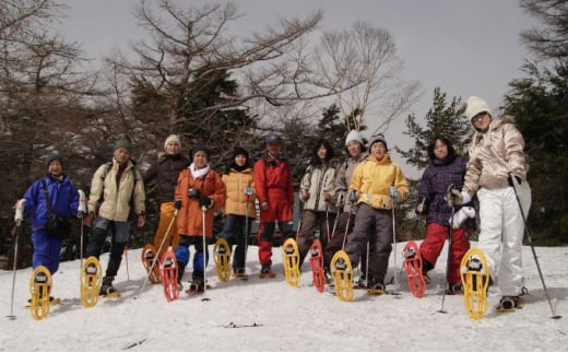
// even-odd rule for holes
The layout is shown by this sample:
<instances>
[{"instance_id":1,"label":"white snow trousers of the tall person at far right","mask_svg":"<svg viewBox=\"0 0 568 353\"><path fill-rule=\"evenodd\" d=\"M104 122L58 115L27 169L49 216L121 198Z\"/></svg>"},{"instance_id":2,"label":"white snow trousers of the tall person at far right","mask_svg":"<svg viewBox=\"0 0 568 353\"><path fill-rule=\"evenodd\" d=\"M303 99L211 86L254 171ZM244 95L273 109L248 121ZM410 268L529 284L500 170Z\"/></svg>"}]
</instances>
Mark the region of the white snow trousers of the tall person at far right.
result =
<instances>
[{"instance_id":1,"label":"white snow trousers of the tall person at far right","mask_svg":"<svg viewBox=\"0 0 568 353\"><path fill-rule=\"evenodd\" d=\"M531 187L523 181L517 185L524 216L531 207ZM487 256L490 275L497 281L501 296L522 293L522 239L524 220L512 187L501 189L481 188L480 199L480 248Z\"/></svg>"}]
</instances>

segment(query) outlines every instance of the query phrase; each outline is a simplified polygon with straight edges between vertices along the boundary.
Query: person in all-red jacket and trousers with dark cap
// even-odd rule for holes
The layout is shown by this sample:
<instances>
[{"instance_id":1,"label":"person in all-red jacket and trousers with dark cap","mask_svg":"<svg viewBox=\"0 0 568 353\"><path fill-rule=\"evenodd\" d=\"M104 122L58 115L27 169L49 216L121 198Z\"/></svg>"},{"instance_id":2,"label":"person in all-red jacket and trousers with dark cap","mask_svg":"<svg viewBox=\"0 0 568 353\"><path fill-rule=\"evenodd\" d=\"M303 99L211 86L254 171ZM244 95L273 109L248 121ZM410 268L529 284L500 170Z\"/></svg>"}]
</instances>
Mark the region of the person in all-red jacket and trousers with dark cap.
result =
<instances>
[{"instance_id":1,"label":"person in all-red jacket and trousers with dark cap","mask_svg":"<svg viewBox=\"0 0 568 353\"><path fill-rule=\"evenodd\" d=\"M293 235L294 186L289 164L282 156L282 138L275 133L267 136L265 155L255 163L253 180L260 203L259 261L260 278L273 279L272 239L276 222L284 237Z\"/></svg>"}]
</instances>

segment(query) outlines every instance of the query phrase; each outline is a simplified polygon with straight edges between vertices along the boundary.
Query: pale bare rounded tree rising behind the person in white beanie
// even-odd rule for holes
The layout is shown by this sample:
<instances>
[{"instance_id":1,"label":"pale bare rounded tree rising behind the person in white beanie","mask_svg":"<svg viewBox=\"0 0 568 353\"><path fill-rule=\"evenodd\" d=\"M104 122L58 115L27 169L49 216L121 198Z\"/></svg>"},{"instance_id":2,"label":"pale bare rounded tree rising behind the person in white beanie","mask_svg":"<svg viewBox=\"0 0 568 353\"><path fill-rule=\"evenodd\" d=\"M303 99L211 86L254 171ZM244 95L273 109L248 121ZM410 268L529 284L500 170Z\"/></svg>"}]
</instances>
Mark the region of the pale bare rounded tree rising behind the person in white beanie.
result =
<instances>
[{"instance_id":1,"label":"pale bare rounded tree rising behind the person in white beanie","mask_svg":"<svg viewBox=\"0 0 568 353\"><path fill-rule=\"evenodd\" d=\"M360 130L374 110L381 119L375 133L383 131L419 97L417 81L401 80L402 61L383 28L356 22L351 30L324 33L316 58L329 83L363 82L336 94L347 130Z\"/></svg>"}]
</instances>

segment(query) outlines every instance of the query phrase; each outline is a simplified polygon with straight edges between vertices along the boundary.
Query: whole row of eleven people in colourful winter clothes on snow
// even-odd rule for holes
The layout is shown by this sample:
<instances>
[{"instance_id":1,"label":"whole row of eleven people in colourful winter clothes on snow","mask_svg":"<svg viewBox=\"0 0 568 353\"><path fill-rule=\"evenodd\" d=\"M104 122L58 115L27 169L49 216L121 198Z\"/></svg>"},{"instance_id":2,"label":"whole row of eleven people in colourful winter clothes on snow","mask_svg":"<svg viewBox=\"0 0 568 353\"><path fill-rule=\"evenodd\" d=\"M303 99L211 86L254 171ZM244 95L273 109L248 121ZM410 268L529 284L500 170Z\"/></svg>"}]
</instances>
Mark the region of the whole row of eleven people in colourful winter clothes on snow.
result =
<instances>
[{"instance_id":1,"label":"whole row of eleven people in colourful winter clothes on snow","mask_svg":"<svg viewBox=\"0 0 568 353\"><path fill-rule=\"evenodd\" d=\"M469 249L468 236L475 226L476 199L481 219L480 247L488 258L490 275L504 296L522 293L521 246L524 220L530 207L526 161L521 133L508 118L494 119L485 101L470 97L465 110L474 136L468 156L459 156L452 142L436 137L427 148L430 165L419 186L418 215L426 215L426 236L421 245L423 270L437 263L446 238L450 238L447 269L448 293L462 292L459 264ZM296 237L300 266L313 239L323 247L324 268L329 271L332 255L344 249L353 266L362 263L369 290L383 291L394 234L394 208L410 195L409 184L399 164L391 161L383 137L372 137L366 146L358 131L345 139L347 157L333 163L335 153L326 139L317 140L311 160L299 187L300 220L293 231L295 193L288 161L282 154L282 138L265 137L263 155L251 164L249 152L235 148L232 160L220 175L210 165L211 152L205 145L181 153L177 136L169 136L165 153L141 174L130 158L131 143L119 139L113 161L97 168L88 201L81 207L79 192L64 172L64 160L50 156L46 161L47 188L51 209L61 216L84 217L93 230L86 247L87 256L98 257L108 231L113 233L109 262L102 292L114 291L113 280L128 242L128 215L133 209L138 226L143 226L144 185L156 181L159 191L159 223L154 246L161 256L167 246L175 249L179 268L178 283L194 247L190 289L203 290L204 269L209 260L205 237L213 238L214 212L224 215L218 236L235 246L233 271L246 275L246 249L251 222L259 204L258 260L260 278L274 278L272 246L276 225L284 237ZM24 216L34 214L34 268L46 264L58 269L60 239L45 232L47 209L38 181L24 195ZM517 203L519 195L521 204ZM166 232L169 230L169 232ZM167 233L167 234L166 234ZM166 238L164 238L167 236ZM166 244L166 247L163 245Z\"/></svg>"}]
</instances>

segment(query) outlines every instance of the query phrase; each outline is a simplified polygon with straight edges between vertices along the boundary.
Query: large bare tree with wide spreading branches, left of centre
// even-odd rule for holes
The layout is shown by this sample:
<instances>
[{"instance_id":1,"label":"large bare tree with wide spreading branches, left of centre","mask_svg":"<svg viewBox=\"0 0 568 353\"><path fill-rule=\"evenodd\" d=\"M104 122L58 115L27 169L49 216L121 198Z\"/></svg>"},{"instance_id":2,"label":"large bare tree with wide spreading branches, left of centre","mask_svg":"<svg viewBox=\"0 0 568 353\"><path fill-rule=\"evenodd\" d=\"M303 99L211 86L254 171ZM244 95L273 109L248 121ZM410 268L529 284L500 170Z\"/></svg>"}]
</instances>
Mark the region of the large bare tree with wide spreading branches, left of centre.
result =
<instances>
[{"instance_id":1,"label":"large bare tree with wide spreading branches, left of centre","mask_svg":"<svg viewBox=\"0 0 568 353\"><path fill-rule=\"evenodd\" d=\"M188 102L203 94L202 90L210 87L206 83L217 74L234 78L238 90L201 107L202 126L218 125L218 113L224 109L258 111L262 104L279 109L331 96L359 83L324 80L315 70L303 39L320 22L321 12L305 20L282 20L280 26L245 38L229 35L230 26L240 17L230 2L185 9L168 0L157 5L142 1L137 17L151 35L151 40L135 43L137 62L117 56L108 60L129 80L151 84L165 98L169 113L163 121L169 131L179 132L188 118ZM191 133L186 132L188 138Z\"/></svg>"}]
</instances>

